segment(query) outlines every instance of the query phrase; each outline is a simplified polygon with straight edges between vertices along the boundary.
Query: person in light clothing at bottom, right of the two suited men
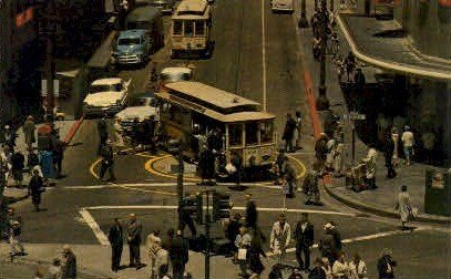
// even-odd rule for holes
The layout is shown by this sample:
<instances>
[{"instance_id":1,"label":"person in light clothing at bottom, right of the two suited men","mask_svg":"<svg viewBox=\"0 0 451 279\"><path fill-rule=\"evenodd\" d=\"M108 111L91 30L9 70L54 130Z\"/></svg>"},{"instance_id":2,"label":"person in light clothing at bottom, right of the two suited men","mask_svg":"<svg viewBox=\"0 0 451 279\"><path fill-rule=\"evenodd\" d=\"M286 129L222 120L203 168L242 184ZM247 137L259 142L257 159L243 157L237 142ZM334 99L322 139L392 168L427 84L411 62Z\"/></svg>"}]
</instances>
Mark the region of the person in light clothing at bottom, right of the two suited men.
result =
<instances>
[{"instance_id":1,"label":"person in light clothing at bottom, right of the two suited men","mask_svg":"<svg viewBox=\"0 0 451 279\"><path fill-rule=\"evenodd\" d=\"M146 249L147 256L151 260L151 278L157 278L160 267L163 265L167 265L167 250L163 249L162 247L162 239L160 238L160 230L154 230L152 234L147 236L146 239Z\"/></svg>"}]
</instances>

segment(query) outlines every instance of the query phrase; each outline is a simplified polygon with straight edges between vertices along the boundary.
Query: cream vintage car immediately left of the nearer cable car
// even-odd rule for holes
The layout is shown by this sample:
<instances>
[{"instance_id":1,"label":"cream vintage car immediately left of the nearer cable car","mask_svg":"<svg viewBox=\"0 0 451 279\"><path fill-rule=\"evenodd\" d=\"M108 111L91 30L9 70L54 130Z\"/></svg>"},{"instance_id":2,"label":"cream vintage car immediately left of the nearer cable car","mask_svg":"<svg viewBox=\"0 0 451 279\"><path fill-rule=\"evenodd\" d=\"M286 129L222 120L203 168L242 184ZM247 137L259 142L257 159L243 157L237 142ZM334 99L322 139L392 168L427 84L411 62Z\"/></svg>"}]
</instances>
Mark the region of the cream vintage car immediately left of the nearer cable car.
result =
<instances>
[{"instance_id":1,"label":"cream vintage car immediately left of the nearer cable car","mask_svg":"<svg viewBox=\"0 0 451 279\"><path fill-rule=\"evenodd\" d=\"M127 104L126 108L114 115L114 127L117 132L132 132L136 124L150 116L155 116L155 121L158 120L158 105L152 92L139 93L131 97Z\"/></svg>"}]
</instances>

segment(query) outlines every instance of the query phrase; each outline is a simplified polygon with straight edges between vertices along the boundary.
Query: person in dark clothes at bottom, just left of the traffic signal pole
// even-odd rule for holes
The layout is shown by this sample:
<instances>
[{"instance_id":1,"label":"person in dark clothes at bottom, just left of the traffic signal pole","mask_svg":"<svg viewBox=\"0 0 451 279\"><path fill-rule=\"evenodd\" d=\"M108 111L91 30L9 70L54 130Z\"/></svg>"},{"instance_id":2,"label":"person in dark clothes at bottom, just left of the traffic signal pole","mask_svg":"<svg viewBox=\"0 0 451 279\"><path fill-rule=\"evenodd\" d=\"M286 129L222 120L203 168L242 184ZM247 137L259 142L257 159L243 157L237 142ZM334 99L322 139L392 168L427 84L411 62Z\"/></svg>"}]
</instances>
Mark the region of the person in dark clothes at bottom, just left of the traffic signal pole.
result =
<instances>
[{"instance_id":1,"label":"person in dark clothes at bottom, just left of the traffic signal pole","mask_svg":"<svg viewBox=\"0 0 451 279\"><path fill-rule=\"evenodd\" d=\"M188 241L183 237L182 231L177 230L176 237L172 240L168 249L174 279L184 278L185 266L189 260L188 250Z\"/></svg>"}]
</instances>

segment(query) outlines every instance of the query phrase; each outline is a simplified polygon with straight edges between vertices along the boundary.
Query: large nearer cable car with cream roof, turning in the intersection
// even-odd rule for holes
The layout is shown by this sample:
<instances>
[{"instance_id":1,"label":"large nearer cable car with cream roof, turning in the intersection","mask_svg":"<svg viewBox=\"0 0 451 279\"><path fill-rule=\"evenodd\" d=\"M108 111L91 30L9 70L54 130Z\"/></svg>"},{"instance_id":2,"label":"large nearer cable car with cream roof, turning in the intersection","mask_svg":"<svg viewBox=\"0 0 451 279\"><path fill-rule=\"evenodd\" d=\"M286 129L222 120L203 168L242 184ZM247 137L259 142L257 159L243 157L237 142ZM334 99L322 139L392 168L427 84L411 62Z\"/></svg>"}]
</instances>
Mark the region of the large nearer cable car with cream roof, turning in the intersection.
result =
<instances>
[{"instance_id":1,"label":"large nearer cable car with cream roof, turning in the intersection","mask_svg":"<svg viewBox=\"0 0 451 279\"><path fill-rule=\"evenodd\" d=\"M276 116L259 103L193 81L173 82L155 93L167 141L181 142L183 155L196 161L208 136L221 138L216 147L224 165L238 157L243 169L268 169L276 159ZM212 146L209 146L211 148ZM235 163L237 161L234 161Z\"/></svg>"}]
</instances>

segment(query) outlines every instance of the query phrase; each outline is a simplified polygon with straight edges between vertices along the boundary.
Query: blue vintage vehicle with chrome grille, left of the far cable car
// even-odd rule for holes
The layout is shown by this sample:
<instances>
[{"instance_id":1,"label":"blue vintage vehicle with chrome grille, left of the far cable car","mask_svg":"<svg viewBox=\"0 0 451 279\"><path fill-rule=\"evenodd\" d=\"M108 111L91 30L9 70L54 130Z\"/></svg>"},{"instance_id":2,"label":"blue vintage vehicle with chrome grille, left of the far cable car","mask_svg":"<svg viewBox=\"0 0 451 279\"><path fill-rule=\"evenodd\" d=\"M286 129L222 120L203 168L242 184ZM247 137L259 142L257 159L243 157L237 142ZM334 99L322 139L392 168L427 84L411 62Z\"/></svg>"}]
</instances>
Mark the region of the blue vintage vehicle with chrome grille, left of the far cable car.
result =
<instances>
[{"instance_id":1,"label":"blue vintage vehicle with chrome grille, left of the far cable car","mask_svg":"<svg viewBox=\"0 0 451 279\"><path fill-rule=\"evenodd\" d=\"M145 64L152 45L145 30L127 30L119 33L111 55L112 64Z\"/></svg>"}]
</instances>

